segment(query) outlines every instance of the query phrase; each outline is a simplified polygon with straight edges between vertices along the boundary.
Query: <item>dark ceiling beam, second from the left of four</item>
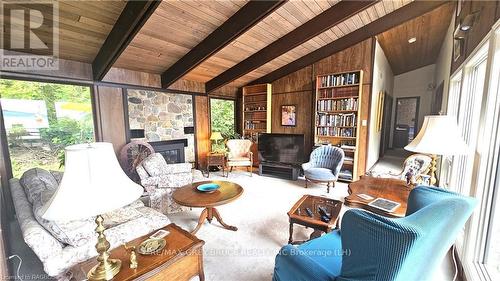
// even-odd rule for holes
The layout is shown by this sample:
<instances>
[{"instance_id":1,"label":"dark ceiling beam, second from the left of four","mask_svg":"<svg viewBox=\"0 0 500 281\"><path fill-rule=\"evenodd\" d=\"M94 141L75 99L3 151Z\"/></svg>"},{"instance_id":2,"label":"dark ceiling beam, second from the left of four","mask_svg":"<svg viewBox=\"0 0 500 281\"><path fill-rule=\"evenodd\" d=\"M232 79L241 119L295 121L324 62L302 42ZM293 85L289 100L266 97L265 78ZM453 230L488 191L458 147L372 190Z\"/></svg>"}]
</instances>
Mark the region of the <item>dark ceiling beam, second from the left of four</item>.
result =
<instances>
[{"instance_id":1,"label":"dark ceiling beam, second from the left of four","mask_svg":"<svg viewBox=\"0 0 500 281\"><path fill-rule=\"evenodd\" d=\"M250 1L161 75L167 88L211 55L252 28L286 0Z\"/></svg>"}]
</instances>

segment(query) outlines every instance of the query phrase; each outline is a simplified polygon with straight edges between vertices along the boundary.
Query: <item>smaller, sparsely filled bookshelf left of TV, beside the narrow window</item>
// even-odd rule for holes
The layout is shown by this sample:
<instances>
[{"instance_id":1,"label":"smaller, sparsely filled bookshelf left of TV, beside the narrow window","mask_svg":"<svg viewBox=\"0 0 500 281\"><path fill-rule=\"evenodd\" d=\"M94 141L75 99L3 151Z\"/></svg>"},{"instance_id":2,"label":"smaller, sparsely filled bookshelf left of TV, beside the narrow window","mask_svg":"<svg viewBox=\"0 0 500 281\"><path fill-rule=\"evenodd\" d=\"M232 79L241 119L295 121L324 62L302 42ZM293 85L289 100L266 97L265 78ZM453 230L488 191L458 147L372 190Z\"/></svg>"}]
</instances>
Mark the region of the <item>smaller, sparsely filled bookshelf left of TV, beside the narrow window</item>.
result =
<instances>
[{"instance_id":1,"label":"smaller, sparsely filled bookshelf left of TV, beside the narrow window","mask_svg":"<svg viewBox=\"0 0 500 281\"><path fill-rule=\"evenodd\" d=\"M243 137L257 142L259 133L271 132L271 84L243 87Z\"/></svg>"}]
</instances>

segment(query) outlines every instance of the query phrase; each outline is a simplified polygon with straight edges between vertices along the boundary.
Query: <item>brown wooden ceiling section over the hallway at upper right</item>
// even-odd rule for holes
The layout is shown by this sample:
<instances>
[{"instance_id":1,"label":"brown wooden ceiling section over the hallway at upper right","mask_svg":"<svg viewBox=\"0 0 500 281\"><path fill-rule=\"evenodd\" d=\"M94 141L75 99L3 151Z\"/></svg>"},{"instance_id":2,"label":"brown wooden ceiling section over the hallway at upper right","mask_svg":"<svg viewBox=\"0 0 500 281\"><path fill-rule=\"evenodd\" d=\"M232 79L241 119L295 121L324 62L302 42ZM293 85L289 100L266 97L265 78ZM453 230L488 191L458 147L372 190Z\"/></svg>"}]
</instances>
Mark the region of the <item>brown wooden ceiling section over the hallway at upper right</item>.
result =
<instances>
[{"instance_id":1,"label":"brown wooden ceiling section over the hallway at upper right","mask_svg":"<svg viewBox=\"0 0 500 281\"><path fill-rule=\"evenodd\" d=\"M443 5L377 36L395 75L436 62L453 8ZM412 37L417 41L410 44Z\"/></svg>"}]
</instances>

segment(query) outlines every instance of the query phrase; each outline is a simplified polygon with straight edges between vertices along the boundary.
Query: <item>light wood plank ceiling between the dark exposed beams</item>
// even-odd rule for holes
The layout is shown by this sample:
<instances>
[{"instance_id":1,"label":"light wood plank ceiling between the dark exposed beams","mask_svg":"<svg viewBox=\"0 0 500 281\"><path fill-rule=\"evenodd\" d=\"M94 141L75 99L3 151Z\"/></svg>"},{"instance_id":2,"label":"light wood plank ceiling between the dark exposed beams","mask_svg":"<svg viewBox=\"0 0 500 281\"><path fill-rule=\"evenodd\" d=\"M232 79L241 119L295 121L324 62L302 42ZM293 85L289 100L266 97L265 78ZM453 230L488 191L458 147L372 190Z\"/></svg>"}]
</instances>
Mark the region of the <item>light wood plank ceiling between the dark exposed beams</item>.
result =
<instances>
[{"instance_id":1,"label":"light wood plank ceiling between the dark exposed beams","mask_svg":"<svg viewBox=\"0 0 500 281\"><path fill-rule=\"evenodd\" d=\"M343 38L348 38L350 35L359 34L360 32L355 31L368 28L374 22L388 18L384 24L378 24L382 28L379 27L377 33L400 24L402 21L399 19L404 16L394 14L403 7L415 7L414 10L417 11L414 16L420 16L445 2L365 0L363 4L359 1L350 1L351 4L348 4L349 0L268 0L265 4L267 8L264 7L262 11L252 14L255 17L252 22L252 19L241 16L241 13L251 8L251 4L255 5L256 1L163 0L161 3L154 0L147 1L156 4L150 5L152 7L150 13L145 12L141 16L134 16L134 11L138 11L136 14L139 14L140 10L137 8L139 5L134 7L131 1L59 1L60 57L92 63L94 67L99 65L102 71L97 71L100 73L98 75L94 73L94 78L97 80L100 80L102 72L107 71L112 65L163 74L162 81L165 75L176 73L179 78L206 83L209 90L226 84L240 87L256 79L263 79L262 77L276 77L277 73L281 75L292 63L296 65L299 60L308 61L307 57L313 54L313 57L316 57L317 53L323 56L328 49L331 49L332 44L342 42ZM357 4L352 4L353 2ZM143 9L144 6L146 5L143 5ZM442 39L443 27L438 21L441 20L442 25L449 23L451 7L451 4L447 5L431 15L421 17L422 20L415 19L404 25L405 27L397 27L403 31L388 31L381 34L380 40L385 43L384 45L389 45L390 42L402 40L401 38L407 40L410 30L426 30L421 32L424 33L422 36L426 37L417 39L417 43L439 41ZM319 20L326 18L327 14L333 15L331 22ZM130 17L136 19L127 21L126 19ZM290 37L294 30L297 33L300 27L304 29L304 26L311 22L316 22L319 26L317 30L313 29L315 32L303 36L301 41L296 40L286 48L275 50L271 55L267 52L267 58L256 63L255 57L267 51L270 45L281 42L281 46L284 46L282 43L287 34ZM212 40L213 37L220 37L221 31L227 29L231 31L227 25L233 23L239 25L240 32L233 28L233 37L228 36L225 38L227 42L219 40L218 45L214 44L217 40ZM368 30L372 32L372 29ZM119 46L113 50L114 41L111 39L116 39L120 34L128 38L116 40ZM351 37L356 39L360 36ZM210 44L206 44L207 41L210 41L208 42ZM352 40L349 38L344 41ZM432 52L434 46L428 43L422 49ZM191 50L200 50L206 57L199 55L195 60ZM390 49L384 50L390 53ZM105 57L107 52L111 52L113 58L108 61L101 60L100 57L103 55ZM411 63L401 55L394 56L397 58L389 58L391 63L393 61L401 61L398 62L401 65ZM411 55L411 57L417 56ZM185 61L190 64L181 63ZM183 64L181 65L183 67L179 67L180 64ZM245 66L244 71L241 71L241 65ZM176 71L172 71L173 68L176 68Z\"/></svg>"}]
</instances>

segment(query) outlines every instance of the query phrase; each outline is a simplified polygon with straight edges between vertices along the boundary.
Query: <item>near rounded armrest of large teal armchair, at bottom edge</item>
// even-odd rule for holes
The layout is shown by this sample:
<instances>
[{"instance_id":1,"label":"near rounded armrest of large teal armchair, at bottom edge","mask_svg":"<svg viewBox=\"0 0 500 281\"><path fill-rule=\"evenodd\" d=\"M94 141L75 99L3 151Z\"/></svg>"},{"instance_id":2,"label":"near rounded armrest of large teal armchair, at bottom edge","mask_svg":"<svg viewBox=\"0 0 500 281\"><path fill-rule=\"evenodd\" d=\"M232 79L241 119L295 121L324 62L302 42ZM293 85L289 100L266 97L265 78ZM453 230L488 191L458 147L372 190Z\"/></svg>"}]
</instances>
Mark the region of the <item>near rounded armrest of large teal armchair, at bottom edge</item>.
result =
<instances>
[{"instance_id":1,"label":"near rounded armrest of large teal armchair, at bottom edge","mask_svg":"<svg viewBox=\"0 0 500 281\"><path fill-rule=\"evenodd\" d=\"M292 245L281 248L276 256L273 281L335 280L331 272Z\"/></svg>"}]
</instances>

